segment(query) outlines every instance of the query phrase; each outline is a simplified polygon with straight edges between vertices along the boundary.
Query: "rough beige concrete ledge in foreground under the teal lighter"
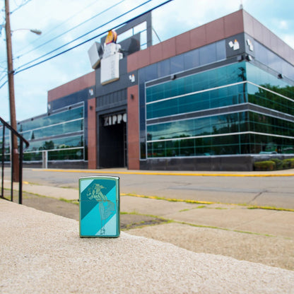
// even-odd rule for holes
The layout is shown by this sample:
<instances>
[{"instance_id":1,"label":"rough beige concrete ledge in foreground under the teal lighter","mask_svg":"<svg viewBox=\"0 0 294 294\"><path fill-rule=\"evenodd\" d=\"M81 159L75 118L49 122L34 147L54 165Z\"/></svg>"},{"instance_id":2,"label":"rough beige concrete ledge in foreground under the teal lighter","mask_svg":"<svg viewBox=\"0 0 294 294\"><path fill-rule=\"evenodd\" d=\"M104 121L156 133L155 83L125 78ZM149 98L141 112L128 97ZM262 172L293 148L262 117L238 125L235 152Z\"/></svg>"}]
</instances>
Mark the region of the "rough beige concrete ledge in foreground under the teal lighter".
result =
<instances>
[{"instance_id":1,"label":"rough beige concrete ledge in foreground under the teal lighter","mask_svg":"<svg viewBox=\"0 0 294 294\"><path fill-rule=\"evenodd\" d=\"M294 293L294 271L122 233L0 199L0 293Z\"/></svg>"}]
</instances>

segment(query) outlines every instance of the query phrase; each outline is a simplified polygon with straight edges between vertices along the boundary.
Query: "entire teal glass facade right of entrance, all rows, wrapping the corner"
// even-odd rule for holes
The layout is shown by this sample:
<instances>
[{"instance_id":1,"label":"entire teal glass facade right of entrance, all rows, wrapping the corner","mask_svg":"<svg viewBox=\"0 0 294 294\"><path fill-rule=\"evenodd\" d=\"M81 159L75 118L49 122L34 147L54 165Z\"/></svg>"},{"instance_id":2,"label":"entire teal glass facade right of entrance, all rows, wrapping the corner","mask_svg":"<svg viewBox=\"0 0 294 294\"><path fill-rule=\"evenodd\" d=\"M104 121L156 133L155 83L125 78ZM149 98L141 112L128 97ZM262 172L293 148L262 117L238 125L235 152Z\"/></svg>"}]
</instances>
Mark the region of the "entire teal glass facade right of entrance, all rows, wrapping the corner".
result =
<instances>
[{"instance_id":1,"label":"entire teal glass facade right of entrance, all rows, wrapping the corner","mask_svg":"<svg viewBox=\"0 0 294 294\"><path fill-rule=\"evenodd\" d=\"M145 107L141 159L294 153L294 87L245 61L152 83Z\"/></svg>"}]
</instances>

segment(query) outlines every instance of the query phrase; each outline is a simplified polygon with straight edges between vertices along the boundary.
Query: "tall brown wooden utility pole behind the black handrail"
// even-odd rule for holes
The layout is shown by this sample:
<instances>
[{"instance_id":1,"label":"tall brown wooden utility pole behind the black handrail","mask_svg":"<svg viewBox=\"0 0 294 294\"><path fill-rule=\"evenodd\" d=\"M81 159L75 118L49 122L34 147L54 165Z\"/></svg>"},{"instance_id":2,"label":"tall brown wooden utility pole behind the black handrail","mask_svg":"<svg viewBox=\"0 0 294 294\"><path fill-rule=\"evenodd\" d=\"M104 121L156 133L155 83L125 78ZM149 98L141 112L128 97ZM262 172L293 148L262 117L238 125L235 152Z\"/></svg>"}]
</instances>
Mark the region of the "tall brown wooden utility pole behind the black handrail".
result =
<instances>
[{"instance_id":1,"label":"tall brown wooden utility pole behind the black handrail","mask_svg":"<svg viewBox=\"0 0 294 294\"><path fill-rule=\"evenodd\" d=\"M10 11L9 0L5 0L5 32L6 32L6 51L7 51L7 73L8 73L8 92L9 92L9 107L10 107L10 124L13 129L17 131L16 126L16 100L14 97L14 70L12 59L12 45L11 45L11 28L10 28ZM18 139L16 135L11 133L11 154L13 153L13 163L11 160L11 168L13 165L13 182L19 182L19 155L18 155ZM11 156L12 158L12 156Z\"/></svg>"}]
</instances>

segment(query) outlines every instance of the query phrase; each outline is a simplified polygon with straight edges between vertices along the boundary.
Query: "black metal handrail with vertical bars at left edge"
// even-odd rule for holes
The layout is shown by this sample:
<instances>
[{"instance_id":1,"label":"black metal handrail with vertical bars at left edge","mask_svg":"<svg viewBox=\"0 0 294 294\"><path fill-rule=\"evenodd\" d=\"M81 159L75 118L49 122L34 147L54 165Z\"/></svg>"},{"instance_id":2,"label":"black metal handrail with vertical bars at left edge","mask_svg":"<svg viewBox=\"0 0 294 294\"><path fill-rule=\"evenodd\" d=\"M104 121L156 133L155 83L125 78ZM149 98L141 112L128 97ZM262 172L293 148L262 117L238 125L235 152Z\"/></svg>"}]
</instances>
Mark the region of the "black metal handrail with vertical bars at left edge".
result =
<instances>
[{"instance_id":1,"label":"black metal handrail with vertical bars at left edge","mask_svg":"<svg viewBox=\"0 0 294 294\"><path fill-rule=\"evenodd\" d=\"M18 203L22 204L23 203L23 151L25 148L28 148L30 143L28 143L23 136L21 136L13 127L11 127L10 124L4 121L0 117L0 122L3 124L3 134L2 134L2 186L1 186L1 196L0 198L6 199L4 197L4 150L5 150L5 128L9 129L11 133L15 136L18 137L20 140L20 145L19 145L19 158L18 158L18 163L19 163L19 187L18 187ZM23 148L23 143L25 143L25 148ZM11 201L13 201L13 156L14 156L14 146L13 146L13 140L11 140ZM8 200L8 199L6 199Z\"/></svg>"}]
</instances>

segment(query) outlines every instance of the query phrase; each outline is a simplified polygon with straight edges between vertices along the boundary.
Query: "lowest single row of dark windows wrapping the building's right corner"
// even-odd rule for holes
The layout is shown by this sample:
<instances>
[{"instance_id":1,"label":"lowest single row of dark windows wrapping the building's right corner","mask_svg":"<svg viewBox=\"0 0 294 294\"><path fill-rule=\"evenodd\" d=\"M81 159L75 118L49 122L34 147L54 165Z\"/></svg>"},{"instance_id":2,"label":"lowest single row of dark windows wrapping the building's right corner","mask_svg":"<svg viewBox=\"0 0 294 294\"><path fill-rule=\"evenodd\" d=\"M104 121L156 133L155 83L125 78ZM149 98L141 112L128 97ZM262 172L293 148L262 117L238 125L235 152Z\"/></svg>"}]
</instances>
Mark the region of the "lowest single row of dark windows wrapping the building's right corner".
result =
<instances>
[{"instance_id":1,"label":"lowest single row of dark windows wrapping the building's right corner","mask_svg":"<svg viewBox=\"0 0 294 294\"><path fill-rule=\"evenodd\" d=\"M293 140L259 134L230 134L147 143L148 158L294 153Z\"/></svg>"}]
</instances>

